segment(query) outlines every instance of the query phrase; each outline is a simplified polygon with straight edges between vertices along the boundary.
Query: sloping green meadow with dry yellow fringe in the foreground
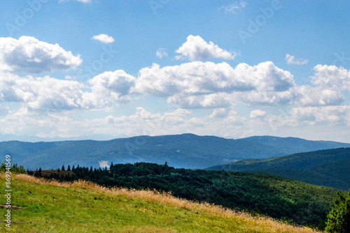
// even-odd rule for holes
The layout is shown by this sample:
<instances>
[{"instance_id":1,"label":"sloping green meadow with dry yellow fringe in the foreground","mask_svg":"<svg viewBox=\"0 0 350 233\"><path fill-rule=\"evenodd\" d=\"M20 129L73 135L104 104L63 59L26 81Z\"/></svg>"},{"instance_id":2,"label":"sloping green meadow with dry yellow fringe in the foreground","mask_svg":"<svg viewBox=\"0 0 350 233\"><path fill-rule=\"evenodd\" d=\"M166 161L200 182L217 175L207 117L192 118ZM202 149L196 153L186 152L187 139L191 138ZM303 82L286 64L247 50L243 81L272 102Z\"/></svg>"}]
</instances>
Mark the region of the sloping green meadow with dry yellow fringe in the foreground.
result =
<instances>
[{"instance_id":1,"label":"sloping green meadow with dry yellow fringe in the foreground","mask_svg":"<svg viewBox=\"0 0 350 233\"><path fill-rule=\"evenodd\" d=\"M0 177L0 190L6 190ZM11 204L25 208L11 210L10 229L2 217L0 232L312 232L151 191L52 184L23 174L13 177ZM1 216L5 213L0 209Z\"/></svg>"}]
</instances>

